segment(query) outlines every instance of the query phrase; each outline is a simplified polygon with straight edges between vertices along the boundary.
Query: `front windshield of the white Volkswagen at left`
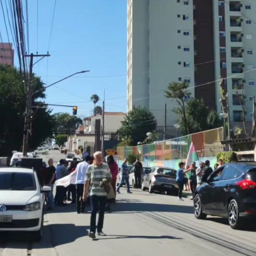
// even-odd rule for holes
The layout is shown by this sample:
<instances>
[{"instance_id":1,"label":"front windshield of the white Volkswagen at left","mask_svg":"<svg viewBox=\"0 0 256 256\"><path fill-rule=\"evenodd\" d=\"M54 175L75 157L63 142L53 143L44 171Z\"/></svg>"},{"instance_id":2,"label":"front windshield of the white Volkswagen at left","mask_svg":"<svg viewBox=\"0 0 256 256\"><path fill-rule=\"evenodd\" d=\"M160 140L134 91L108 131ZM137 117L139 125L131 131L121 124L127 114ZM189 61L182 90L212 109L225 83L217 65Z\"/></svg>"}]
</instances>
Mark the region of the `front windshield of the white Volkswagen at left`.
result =
<instances>
[{"instance_id":1,"label":"front windshield of the white Volkswagen at left","mask_svg":"<svg viewBox=\"0 0 256 256\"><path fill-rule=\"evenodd\" d=\"M0 190L36 190L32 173L0 173Z\"/></svg>"}]
</instances>

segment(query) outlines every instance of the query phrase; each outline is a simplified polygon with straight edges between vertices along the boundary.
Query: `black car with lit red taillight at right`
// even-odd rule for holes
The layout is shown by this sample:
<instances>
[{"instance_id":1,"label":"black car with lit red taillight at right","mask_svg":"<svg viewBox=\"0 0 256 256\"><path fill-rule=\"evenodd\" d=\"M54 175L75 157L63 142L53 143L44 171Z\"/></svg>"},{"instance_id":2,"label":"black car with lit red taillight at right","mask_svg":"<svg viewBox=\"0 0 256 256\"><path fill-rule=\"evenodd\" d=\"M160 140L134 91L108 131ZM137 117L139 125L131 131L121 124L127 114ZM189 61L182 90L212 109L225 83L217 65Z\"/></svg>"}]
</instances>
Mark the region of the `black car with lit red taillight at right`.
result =
<instances>
[{"instance_id":1,"label":"black car with lit red taillight at right","mask_svg":"<svg viewBox=\"0 0 256 256\"><path fill-rule=\"evenodd\" d=\"M228 218L231 228L241 226L242 217L256 217L256 163L237 162L222 165L197 188L194 215Z\"/></svg>"}]
</instances>

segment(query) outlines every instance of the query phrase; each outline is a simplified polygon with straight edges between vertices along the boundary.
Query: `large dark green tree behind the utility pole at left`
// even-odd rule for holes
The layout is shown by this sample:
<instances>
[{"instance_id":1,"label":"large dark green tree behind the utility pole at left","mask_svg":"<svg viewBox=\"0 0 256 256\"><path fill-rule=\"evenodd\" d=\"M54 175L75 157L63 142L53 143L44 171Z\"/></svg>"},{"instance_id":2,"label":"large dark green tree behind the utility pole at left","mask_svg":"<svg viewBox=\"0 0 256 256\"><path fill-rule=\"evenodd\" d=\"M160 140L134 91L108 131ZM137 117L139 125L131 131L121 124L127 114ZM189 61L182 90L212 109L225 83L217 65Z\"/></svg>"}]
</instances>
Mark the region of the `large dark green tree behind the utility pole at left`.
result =
<instances>
[{"instance_id":1,"label":"large dark green tree behind the utility pole at left","mask_svg":"<svg viewBox=\"0 0 256 256\"><path fill-rule=\"evenodd\" d=\"M27 95L23 80L16 68L0 65L0 155L10 155L13 150L21 150ZM42 88L43 82L33 75L32 90ZM43 91L33 95L33 106L36 106L39 98L45 98ZM33 108L29 149L34 149L45 139L51 138L54 125L51 110Z\"/></svg>"}]
</instances>

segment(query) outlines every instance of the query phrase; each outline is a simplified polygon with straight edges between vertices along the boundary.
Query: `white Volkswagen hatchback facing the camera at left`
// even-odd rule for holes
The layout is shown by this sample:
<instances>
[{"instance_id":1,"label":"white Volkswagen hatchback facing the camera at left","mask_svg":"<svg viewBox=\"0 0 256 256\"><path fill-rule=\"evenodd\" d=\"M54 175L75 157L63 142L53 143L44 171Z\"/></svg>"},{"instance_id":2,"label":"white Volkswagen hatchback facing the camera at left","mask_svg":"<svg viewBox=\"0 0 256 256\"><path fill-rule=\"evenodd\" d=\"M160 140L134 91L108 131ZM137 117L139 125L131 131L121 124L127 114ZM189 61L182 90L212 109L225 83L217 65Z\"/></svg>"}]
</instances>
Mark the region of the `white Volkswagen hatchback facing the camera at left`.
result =
<instances>
[{"instance_id":1,"label":"white Volkswagen hatchback facing the camera at left","mask_svg":"<svg viewBox=\"0 0 256 256\"><path fill-rule=\"evenodd\" d=\"M33 169L0 168L0 232L30 231L40 240L43 227L44 192Z\"/></svg>"}]
</instances>

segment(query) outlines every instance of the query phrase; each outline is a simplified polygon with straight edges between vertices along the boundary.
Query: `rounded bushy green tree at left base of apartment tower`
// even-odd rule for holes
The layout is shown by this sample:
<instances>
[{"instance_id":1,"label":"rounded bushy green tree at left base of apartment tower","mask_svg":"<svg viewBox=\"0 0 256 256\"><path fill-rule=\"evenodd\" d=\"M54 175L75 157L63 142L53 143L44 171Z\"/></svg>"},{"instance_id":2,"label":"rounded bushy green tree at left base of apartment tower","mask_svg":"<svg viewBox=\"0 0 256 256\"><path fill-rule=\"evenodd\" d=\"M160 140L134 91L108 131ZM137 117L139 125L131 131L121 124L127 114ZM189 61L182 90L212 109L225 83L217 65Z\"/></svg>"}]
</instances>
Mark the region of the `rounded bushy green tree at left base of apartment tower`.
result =
<instances>
[{"instance_id":1,"label":"rounded bushy green tree at left base of apartment tower","mask_svg":"<svg viewBox=\"0 0 256 256\"><path fill-rule=\"evenodd\" d=\"M147 138L147 132L153 132L156 128L154 115L145 108L135 107L129 111L124 121L121 122L119 134L121 145L137 145Z\"/></svg>"}]
</instances>

